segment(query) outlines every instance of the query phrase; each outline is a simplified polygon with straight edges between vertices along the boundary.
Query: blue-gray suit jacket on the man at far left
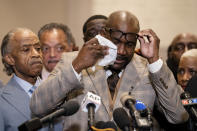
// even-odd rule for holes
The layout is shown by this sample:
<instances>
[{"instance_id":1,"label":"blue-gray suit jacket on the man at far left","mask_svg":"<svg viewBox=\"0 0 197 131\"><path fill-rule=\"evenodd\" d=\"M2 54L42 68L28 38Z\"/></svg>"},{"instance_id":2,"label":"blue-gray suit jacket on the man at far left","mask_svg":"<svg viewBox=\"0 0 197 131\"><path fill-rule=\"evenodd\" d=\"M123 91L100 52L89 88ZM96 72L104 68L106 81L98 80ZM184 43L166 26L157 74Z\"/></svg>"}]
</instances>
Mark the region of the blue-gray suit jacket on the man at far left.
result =
<instances>
[{"instance_id":1,"label":"blue-gray suit jacket on the man at far left","mask_svg":"<svg viewBox=\"0 0 197 131\"><path fill-rule=\"evenodd\" d=\"M13 79L0 94L0 131L18 131L18 126L31 118L30 97Z\"/></svg>"}]
</instances>

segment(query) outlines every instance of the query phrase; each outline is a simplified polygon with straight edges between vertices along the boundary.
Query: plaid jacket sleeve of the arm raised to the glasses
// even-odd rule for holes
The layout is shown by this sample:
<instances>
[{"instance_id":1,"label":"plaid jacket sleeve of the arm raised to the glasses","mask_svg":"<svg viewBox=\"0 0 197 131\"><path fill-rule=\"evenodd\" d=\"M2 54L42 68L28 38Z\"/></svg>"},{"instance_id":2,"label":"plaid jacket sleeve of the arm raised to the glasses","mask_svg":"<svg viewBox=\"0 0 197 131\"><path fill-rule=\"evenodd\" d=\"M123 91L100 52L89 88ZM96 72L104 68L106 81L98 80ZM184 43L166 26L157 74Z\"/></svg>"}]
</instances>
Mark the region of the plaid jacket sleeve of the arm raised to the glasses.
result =
<instances>
[{"instance_id":1,"label":"plaid jacket sleeve of the arm raised to the glasses","mask_svg":"<svg viewBox=\"0 0 197 131\"><path fill-rule=\"evenodd\" d=\"M163 63L156 73L150 73L153 86L156 90L159 108L170 123L182 123L188 120L188 113L184 109L180 95L182 88L176 83L172 72Z\"/></svg>"}]
</instances>

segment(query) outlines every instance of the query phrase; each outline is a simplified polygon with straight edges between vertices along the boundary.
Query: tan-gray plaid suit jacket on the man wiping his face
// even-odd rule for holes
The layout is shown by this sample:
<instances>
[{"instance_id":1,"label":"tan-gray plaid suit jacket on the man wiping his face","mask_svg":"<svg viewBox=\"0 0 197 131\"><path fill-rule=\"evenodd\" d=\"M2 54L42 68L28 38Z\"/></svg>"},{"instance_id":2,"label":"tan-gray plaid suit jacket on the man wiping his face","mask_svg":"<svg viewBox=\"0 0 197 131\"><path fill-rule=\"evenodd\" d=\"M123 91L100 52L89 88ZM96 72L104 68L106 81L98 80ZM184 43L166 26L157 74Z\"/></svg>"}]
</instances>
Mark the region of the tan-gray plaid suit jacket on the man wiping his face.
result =
<instances>
[{"instance_id":1,"label":"tan-gray plaid suit jacket on the man wiping his face","mask_svg":"<svg viewBox=\"0 0 197 131\"><path fill-rule=\"evenodd\" d=\"M82 79L78 81L71 66L76 54L76 52L64 53L48 80L35 90L30 104L35 115L42 115L54 109L57 103L68 96L68 92L78 89L73 94L77 96L79 103L88 91L93 91L101 97L102 105L95 114L96 121L112 120L113 110L122 107L120 97L125 92L130 92L134 98L144 102L151 110L157 100L158 107L171 123L187 120L188 114L180 101L182 90L177 86L166 64L163 64L158 72L149 73L147 61L134 55L119 80L119 88L113 103L109 97L103 67L96 66L95 71L91 68L83 70ZM73 116L65 117L64 129L87 131L87 118L87 113L79 109Z\"/></svg>"}]
</instances>

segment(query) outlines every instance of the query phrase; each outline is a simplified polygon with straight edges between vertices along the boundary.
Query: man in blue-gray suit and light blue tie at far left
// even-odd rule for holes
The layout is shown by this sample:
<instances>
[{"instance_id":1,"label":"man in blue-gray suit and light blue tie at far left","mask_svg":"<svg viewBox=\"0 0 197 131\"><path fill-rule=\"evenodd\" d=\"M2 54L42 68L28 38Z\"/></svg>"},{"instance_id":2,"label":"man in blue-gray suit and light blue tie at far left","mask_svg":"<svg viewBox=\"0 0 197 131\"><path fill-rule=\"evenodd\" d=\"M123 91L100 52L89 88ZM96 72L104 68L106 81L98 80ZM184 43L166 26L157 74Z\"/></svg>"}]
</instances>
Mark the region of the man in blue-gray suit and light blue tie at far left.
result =
<instances>
[{"instance_id":1,"label":"man in blue-gray suit and light blue tie at far left","mask_svg":"<svg viewBox=\"0 0 197 131\"><path fill-rule=\"evenodd\" d=\"M20 124L31 119L30 97L40 82L38 37L27 28L13 29L3 38L1 55L4 71L12 78L0 94L0 131L17 131Z\"/></svg>"}]
</instances>

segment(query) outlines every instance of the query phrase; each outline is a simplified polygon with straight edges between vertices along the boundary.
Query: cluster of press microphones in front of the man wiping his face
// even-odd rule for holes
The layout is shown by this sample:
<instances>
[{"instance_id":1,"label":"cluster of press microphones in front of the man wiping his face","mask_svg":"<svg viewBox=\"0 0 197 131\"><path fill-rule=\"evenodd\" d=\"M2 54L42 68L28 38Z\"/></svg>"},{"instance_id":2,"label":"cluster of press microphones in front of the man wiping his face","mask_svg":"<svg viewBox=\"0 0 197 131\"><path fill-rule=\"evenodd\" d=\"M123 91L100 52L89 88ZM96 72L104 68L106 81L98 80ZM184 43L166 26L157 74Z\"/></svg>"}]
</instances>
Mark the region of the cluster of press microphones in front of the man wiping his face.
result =
<instances>
[{"instance_id":1,"label":"cluster of press microphones in front of the man wiping his face","mask_svg":"<svg viewBox=\"0 0 197 131\"><path fill-rule=\"evenodd\" d=\"M186 93L181 95L182 103L184 106L190 106L197 103L197 98L192 99ZM152 130L153 122L150 110L145 104L139 100L135 100L131 95L123 94L120 98L120 102L123 107L114 109L113 121L95 121L95 113L101 105L100 96L88 92L81 103L81 109L87 112L88 115L88 131L117 131L118 128L123 131L130 130ZM44 124L52 123L56 118L60 116L70 116L75 114L80 108L77 101L70 100L66 102L61 108L55 112L43 117L33 118L21 124L19 131L35 131L41 129ZM195 118L197 118L196 109L189 108ZM129 112L129 115L128 113ZM118 128L117 128L117 126Z\"/></svg>"}]
</instances>

